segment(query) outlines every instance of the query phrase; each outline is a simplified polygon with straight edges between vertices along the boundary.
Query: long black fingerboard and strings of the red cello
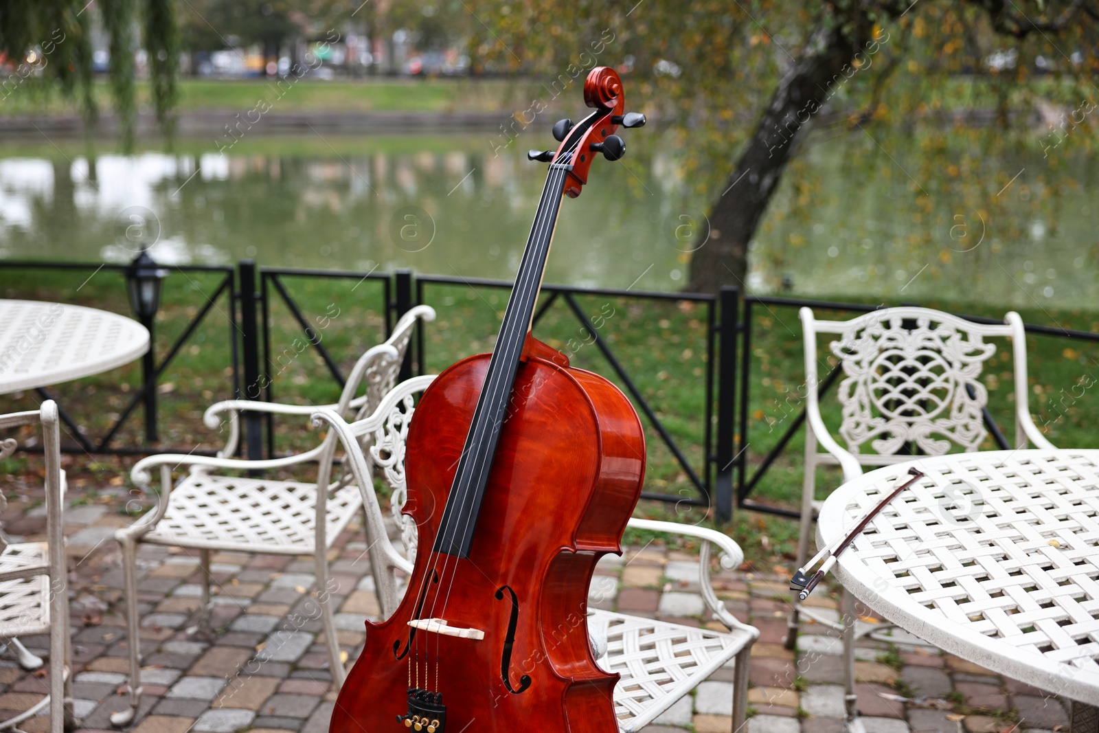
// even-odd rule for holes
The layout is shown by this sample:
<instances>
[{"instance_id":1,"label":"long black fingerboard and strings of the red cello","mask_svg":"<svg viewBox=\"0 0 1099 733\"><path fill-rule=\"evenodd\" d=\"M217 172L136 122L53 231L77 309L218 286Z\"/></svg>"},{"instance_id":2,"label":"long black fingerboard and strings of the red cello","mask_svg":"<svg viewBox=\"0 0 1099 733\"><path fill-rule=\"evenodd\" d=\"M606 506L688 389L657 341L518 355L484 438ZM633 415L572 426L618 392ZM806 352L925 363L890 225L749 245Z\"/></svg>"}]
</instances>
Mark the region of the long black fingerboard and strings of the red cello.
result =
<instances>
[{"instance_id":1,"label":"long black fingerboard and strings of the red cello","mask_svg":"<svg viewBox=\"0 0 1099 733\"><path fill-rule=\"evenodd\" d=\"M477 515L485 498L485 487L500 430L507 418L508 400L520 356L534 318L534 306L542 288L546 257L570 168L565 163L553 163L550 166L519 274L515 276L515 285L503 314L500 334L489 359L473 423L458 459L454 484L435 537L435 552L457 557L469 556Z\"/></svg>"}]
</instances>

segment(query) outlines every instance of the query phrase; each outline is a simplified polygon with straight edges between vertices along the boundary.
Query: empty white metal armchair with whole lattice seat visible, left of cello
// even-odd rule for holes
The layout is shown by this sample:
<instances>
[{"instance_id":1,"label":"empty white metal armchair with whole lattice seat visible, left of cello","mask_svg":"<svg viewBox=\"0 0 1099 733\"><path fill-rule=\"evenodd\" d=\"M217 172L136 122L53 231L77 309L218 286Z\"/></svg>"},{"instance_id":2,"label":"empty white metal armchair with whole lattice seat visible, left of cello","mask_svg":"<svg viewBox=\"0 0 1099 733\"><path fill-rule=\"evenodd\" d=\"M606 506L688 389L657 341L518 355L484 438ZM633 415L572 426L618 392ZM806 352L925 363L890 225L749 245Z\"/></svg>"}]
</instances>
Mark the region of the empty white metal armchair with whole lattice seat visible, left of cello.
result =
<instances>
[{"instance_id":1,"label":"empty white metal armchair with whole lattice seat visible, left of cello","mask_svg":"<svg viewBox=\"0 0 1099 733\"><path fill-rule=\"evenodd\" d=\"M392 386L418 320L432 321L435 311L418 306L406 313L386 343L367 351L355 364L336 404L340 414L362 415L375 407ZM356 397L359 388L363 395ZM340 659L340 642L329 607L328 549L362 508L363 493L346 471L333 480L336 441L329 435L306 453L266 460L232 458L240 441L242 411L307 417L317 406L278 404L249 400L227 400L211 406L204 415L214 429L227 415L229 440L217 457L162 454L143 458L131 476L136 486L156 493L156 507L114 536L122 545L125 574L127 638L130 647L130 707L114 713L111 723L129 724L141 702L140 619L137 618L137 545L149 543L199 551L202 569L200 625L209 618L210 557L215 551L276 555L312 555L317 567L317 597L321 622L332 658ZM317 465L317 480L290 481L257 478L254 471ZM173 484L173 471L187 466L190 471ZM159 468L160 490L151 488L153 469ZM248 471L244 477L227 471ZM369 477L367 477L369 480ZM325 487L325 490L318 490ZM367 536L367 541L371 540ZM333 665L336 686L343 684L342 665Z\"/></svg>"}]
</instances>

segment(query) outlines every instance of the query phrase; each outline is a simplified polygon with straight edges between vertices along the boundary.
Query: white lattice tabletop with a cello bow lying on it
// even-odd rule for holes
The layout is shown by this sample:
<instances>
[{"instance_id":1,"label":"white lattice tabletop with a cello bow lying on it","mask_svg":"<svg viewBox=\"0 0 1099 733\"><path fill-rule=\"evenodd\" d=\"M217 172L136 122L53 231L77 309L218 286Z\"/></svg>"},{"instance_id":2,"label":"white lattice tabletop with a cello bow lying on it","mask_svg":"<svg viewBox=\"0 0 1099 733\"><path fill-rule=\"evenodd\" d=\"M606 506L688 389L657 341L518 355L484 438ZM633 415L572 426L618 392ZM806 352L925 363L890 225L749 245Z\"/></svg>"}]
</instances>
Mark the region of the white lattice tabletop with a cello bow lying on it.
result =
<instances>
[{"instance_id":1,"label":"white lattice tabletop with a cello bow lying on it","mask_svg":"<svg viewBox=\"0 0 1099 733\"><path fill-rule=\"evenodd\" d=\"M965 453L888 466L824 502L818 542L903 482L840 555L839 580L965 659L1099 704L1099 451Z\"/></svg>"}]
</instances>

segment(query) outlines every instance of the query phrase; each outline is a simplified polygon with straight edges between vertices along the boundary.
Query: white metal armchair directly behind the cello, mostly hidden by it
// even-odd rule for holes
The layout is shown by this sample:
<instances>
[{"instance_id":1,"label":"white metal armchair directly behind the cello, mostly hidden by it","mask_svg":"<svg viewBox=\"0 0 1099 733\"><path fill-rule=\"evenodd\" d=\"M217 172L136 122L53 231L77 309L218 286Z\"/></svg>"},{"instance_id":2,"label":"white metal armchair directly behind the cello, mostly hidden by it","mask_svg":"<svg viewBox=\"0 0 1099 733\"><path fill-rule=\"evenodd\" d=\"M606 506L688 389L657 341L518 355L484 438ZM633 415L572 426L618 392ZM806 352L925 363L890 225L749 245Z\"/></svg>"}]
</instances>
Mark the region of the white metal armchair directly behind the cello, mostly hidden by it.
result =
<instances>
[{"instance_id":1,"label":"white metal armchair directly behind the cello, mostly hidden by it","mask_svg":"<svg viewBox=\"0 0 1099 733\"><path fill-rule=\"evenodd\" d=\"M318 410L314 420L331 425L347 453L346 462L356 474L364 496L367 524L376 542L370 547L370 568L379 589L384 617L400 603L401 588L396 573L411 574L417 544L417 527L411 518L400 513L407 499L404 482L404 441L414 411L415 396L428 388L433 376L401 382L378 404L373 415L348 424L331 409ZM360 446L366 440L367 449ZM407 557L393 547L385 532L385 520L373 485L366 480L373 467L392 488L390 511L401 530ZM721 565L739 567L744 555L730 537L706 527L631 519L630 526L681 534L703 540L700 553L699 587L707 607L729 630L719 632L680 624L589 609L587 623L592 651L599 664L622 678L614 689L614 709L622 731L632 732L651 723L677 700L688 695L714 670L735 659L733 725L744 724L747 702L748 656L759 632L741 623L718 598L710 581L711 545L723 553ZM343 671L340 675L343 677Z\"/></svg>"}]
</instances>

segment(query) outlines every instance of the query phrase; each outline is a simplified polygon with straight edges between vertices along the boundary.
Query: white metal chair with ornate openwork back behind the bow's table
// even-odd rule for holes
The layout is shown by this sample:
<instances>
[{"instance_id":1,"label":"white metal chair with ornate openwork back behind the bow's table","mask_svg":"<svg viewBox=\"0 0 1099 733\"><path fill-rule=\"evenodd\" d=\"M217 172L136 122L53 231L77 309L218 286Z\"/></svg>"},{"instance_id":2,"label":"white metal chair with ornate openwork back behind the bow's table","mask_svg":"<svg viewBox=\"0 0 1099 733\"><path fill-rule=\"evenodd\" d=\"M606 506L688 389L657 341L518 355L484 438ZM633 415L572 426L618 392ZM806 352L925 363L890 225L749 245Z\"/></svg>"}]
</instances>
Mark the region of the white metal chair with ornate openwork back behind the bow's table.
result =
<instances>
[{"instance_id":1,"label":"white metal chair with ornate openwork back behind the bow's table","mask_svg":"<svg viewBox=\"0 0 1099 733\"><path fill-rule=\"evenodd\" d=\"M988 391L980 382L984 364L996 353L985 337L1011 340L1014 357L1014 445L1028 441L1052 448L1031 419L1026 397L1026 337L1023 321L1009 312L1002 324L980 324L926 308L873 311L850 321L820 321L809 308L800 311L806 358L806 473L801 496L798 566L809 555L809 535L822 502L814 500L817 467L839 465L844 482L863 466L912 460L913 455L942 455L952 448L978 451L988 432L984 408ZM843 369L837 393L842 421L837 432L824 424L818 400L818 334L836 334L830 349ZM818 444L824 448L818 451ZM864 448L868 448L864 452ZM839 631L843 637L847 720L854 723L855 641L880 631L880 624L854 620L854 601L844 592L840 622L819 609L795 604L787 646L797 643L799 615Z\"/></svg>"}]
</instances>

